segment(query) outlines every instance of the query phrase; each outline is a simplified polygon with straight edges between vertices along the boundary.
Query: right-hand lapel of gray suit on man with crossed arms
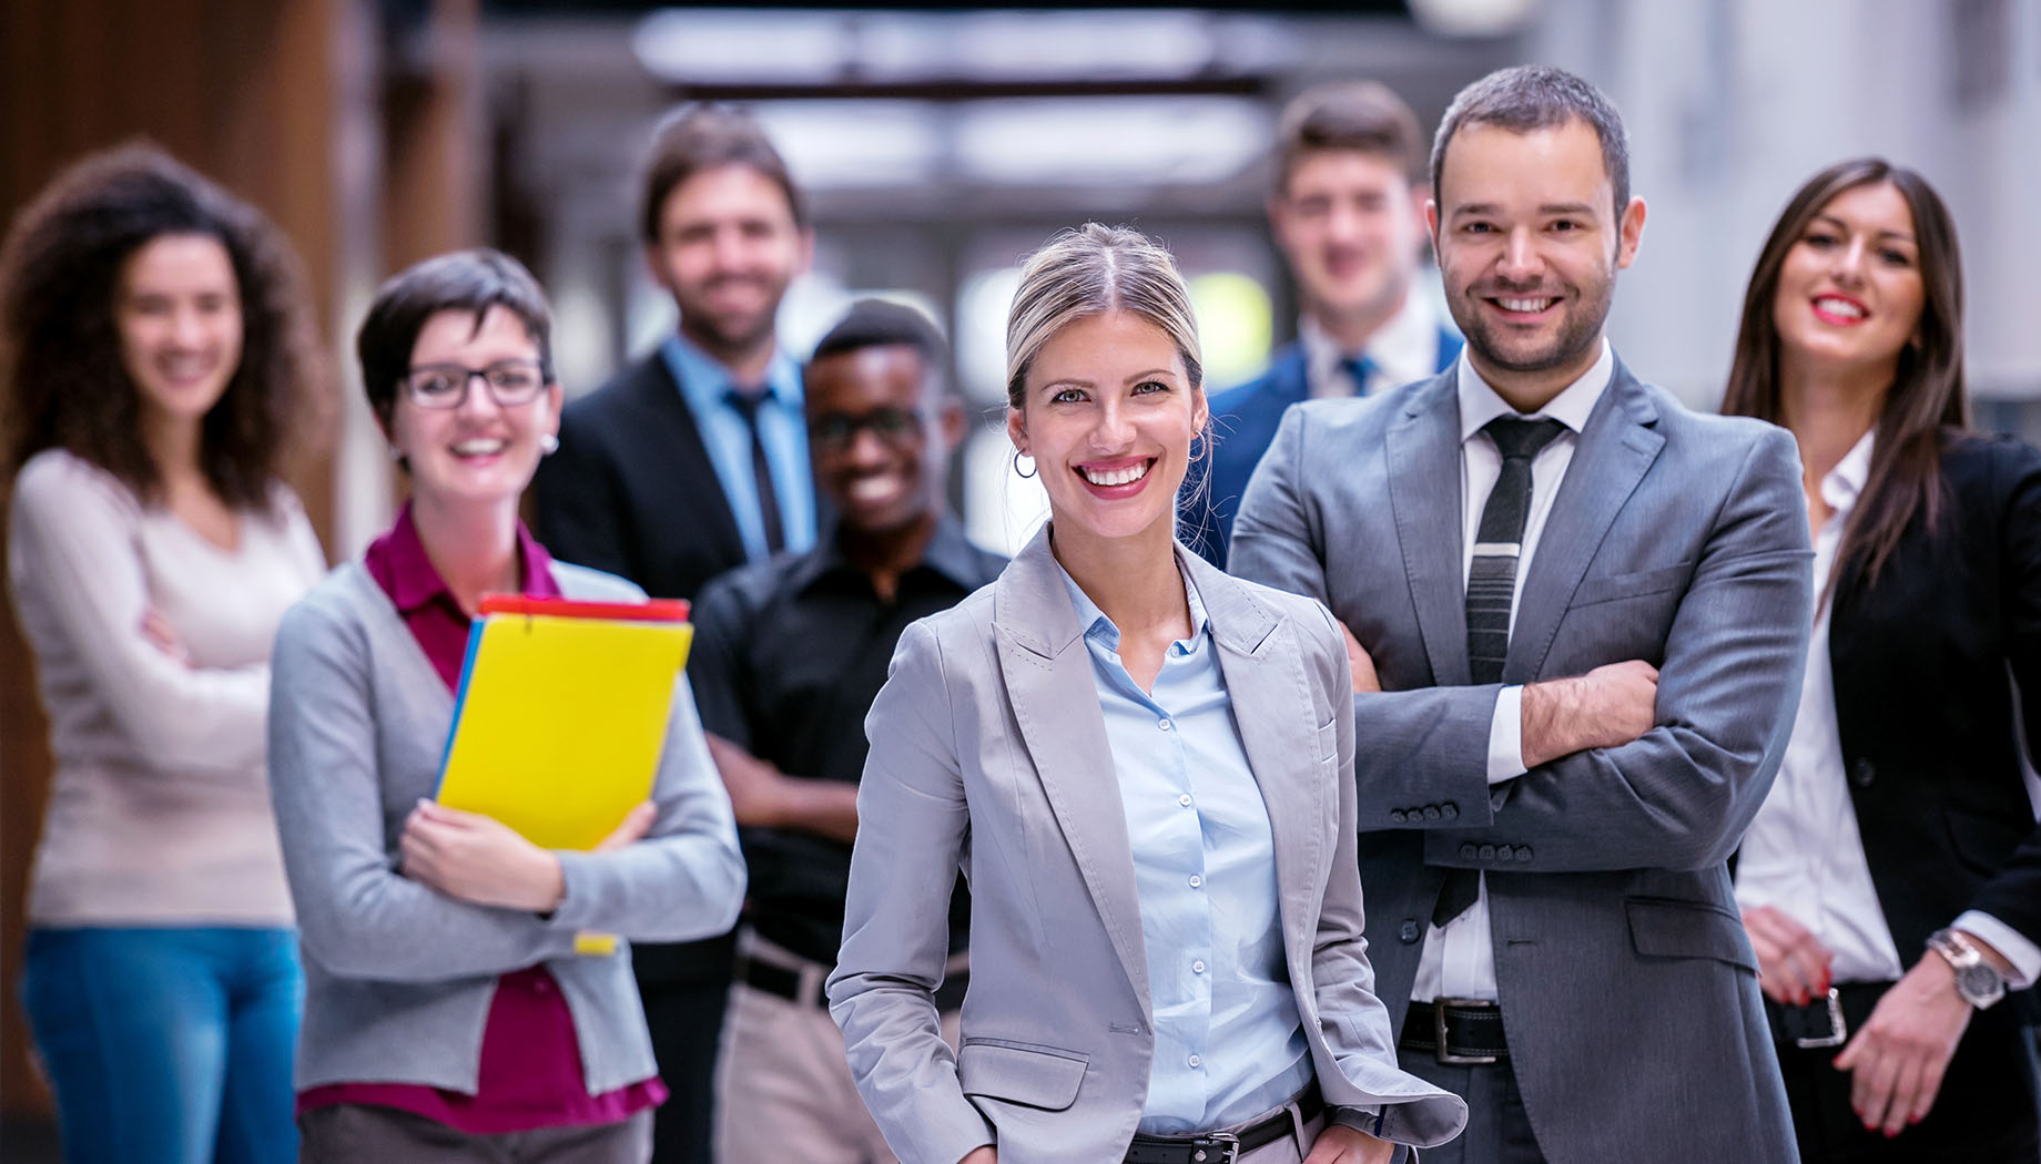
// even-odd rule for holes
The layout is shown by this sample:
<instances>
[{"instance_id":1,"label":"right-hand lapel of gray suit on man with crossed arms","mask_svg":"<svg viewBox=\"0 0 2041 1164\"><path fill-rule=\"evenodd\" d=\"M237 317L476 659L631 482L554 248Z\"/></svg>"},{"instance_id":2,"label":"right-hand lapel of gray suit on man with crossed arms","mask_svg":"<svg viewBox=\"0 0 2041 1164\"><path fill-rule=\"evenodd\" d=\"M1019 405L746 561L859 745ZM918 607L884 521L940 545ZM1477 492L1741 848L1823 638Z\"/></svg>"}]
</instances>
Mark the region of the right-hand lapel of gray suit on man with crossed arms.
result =
<instances>
[{"instance_id":1,"label":"right-hand lapel of gray suit on man with crossed arms","mask_svg":"<svg viewBox=\"0 0 2041 1164\"><path fill-rule=\"evenodd\" d=\"M1574 601L1588 561L1665 446L1655 424L1657 406L1631 369L1616 361L1608 391L1580 432L1580 446L1574 448L1574 461L1565 467L1559 495L1553 497L1545 532L1531 557L1516 626L1510 630L1510 654L1502 665L1504 683L1529 683L1545 667L1559 618Z\"/></svg>"}]
</instances>

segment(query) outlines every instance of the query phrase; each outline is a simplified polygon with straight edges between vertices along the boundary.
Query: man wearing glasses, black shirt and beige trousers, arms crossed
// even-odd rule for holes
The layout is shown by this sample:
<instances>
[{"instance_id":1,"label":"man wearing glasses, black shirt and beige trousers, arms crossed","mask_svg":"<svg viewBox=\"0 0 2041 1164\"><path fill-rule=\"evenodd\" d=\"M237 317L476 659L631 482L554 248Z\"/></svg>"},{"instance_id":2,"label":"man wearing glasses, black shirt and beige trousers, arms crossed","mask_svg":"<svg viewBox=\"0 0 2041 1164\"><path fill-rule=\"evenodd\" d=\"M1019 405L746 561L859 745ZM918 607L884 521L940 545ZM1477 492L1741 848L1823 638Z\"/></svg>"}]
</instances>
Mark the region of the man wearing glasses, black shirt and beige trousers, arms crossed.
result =
<instances>
[{"instance_id":1,"label":"man wearing glasses, black shirt and beige trousers, arms crossed","mask_svg":"<svg viewBox=\"0 0 2041 1164\"><path fill-rule=\"evenodd\" d=\"M861 300L804 377L816 489L837 524L814 550L702 591L688 677L751 866L716 1066L718 1164L892 1160L865 1113L823 983L843 938L865 711L906 626L1006 565L963 540L945 465L963 408L920 312ZM951 903L945 1027L963 1003L967 903Z\"/></svg>"}]
</instances>

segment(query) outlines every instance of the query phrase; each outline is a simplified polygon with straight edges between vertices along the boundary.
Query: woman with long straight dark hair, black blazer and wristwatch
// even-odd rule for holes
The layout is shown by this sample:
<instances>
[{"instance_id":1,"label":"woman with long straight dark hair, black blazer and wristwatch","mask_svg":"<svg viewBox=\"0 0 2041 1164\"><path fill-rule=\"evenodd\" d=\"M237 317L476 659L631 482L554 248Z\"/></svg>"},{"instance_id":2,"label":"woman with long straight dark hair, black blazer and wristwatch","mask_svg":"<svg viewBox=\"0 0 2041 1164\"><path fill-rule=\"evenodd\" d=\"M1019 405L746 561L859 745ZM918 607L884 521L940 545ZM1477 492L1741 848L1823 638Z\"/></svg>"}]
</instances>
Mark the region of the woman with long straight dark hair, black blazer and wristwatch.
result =
<instances>
[{"instance_id":1,"label":"woman with long straight dark hair, black blazer and wristwatch","mask_svg":"<svg viewBox=\"0 0 2041 1164\"><path fill-rule=\"evenodd\" d=\"M2031 1164L2041 453L1965 428L1927 179L1853 159L1794 194L1723 410L1792 430L1814 530L1800 713L1737 864L1802 1160Z\"/></svg>"}]
</instances>

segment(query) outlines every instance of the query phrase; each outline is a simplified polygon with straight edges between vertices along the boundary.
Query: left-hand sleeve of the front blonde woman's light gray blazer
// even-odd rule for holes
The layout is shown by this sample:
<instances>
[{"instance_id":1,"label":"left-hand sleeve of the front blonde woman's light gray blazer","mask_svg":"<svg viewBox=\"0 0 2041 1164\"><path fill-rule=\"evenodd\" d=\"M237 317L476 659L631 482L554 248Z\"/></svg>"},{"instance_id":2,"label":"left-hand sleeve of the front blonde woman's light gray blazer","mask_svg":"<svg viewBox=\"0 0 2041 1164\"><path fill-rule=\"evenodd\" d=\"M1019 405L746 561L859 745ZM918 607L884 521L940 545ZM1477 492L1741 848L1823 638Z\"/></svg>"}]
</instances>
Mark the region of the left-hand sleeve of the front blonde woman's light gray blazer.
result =
<instances>
[{"instance_id":1,"label":"left-hand sleeve of the front blonde woman's light gray blazer","mask_svg":"<svg viewBox=\"0 0 2041 1164\"><path fill-rule=\"evenodd\" d=\"M992 1144L943 1042L935 987L949 960L949 891L969 828L935 632L908 626L865 718L857 844L829 1013L857 1091L902 1164L955 1164Z\"/></svg>"}]
</instances>

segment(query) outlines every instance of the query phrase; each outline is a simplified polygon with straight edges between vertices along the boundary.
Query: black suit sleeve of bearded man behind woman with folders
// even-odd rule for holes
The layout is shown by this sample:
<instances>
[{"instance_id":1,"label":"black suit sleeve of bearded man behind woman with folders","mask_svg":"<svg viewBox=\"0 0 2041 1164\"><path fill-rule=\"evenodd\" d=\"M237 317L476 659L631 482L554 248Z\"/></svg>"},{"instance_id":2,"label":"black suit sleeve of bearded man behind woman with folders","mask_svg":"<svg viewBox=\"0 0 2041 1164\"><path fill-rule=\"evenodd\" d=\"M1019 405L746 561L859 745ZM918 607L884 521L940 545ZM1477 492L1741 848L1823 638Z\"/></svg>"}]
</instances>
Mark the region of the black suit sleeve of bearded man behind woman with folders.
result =
<instances>
[{"instance_id":1,"label":"black suit sleeve of bearded man behind woman with folders","mask_svg":"<svg viewBox=\"0 0 2041 1164\"><path fill-rule=\"evenodd\" d=\"M590 398L559 416L559 451L539 461L533 477L533 518L555 559L643 579L631 561L620 469L602 440L600 416L588 412L602 404Z\"/></svg>"}]
</instances>

